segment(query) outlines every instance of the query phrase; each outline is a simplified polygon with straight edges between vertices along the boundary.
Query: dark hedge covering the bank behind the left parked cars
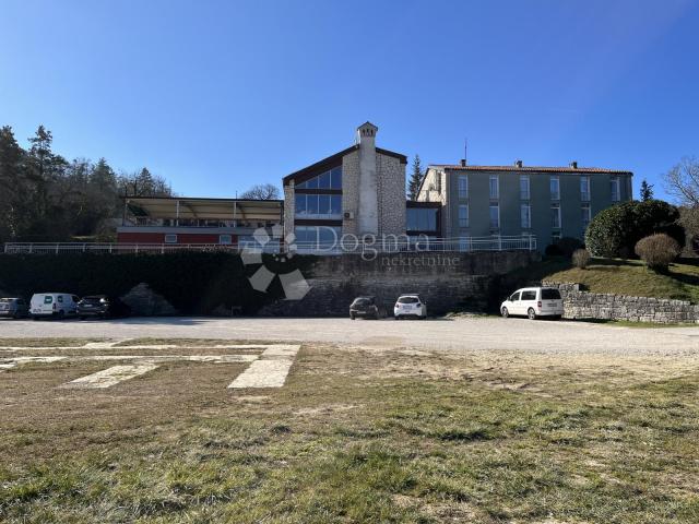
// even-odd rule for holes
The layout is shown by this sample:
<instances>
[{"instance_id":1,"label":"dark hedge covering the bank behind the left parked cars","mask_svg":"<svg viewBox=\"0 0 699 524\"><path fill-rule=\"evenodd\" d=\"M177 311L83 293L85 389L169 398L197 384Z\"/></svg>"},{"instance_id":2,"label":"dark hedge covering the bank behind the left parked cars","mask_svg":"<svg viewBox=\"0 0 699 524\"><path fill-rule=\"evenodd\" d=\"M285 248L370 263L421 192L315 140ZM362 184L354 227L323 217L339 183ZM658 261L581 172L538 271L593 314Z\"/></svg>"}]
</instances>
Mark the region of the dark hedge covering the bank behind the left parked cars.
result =
<instances>
[{"instance_id":1,"label":"dark hedge covering the bank behind the left parked cars","mask_svg":"<svg viewBox=\"0 0 699 524\"><path fill-rule=\"evenodd\" d=\"M300 269L309 274L315 257L296 255L280 265L263 254L272 272ZM259 264L245 266L237 254L182 251L166 254L1 254L0 289L15 296L64 291L78 296L123 296L146 283L182 314L210 314L218 306L254 314L284 298L279 278L266 293L252 289L248 277Z\"/></svg>"}]
</instances>

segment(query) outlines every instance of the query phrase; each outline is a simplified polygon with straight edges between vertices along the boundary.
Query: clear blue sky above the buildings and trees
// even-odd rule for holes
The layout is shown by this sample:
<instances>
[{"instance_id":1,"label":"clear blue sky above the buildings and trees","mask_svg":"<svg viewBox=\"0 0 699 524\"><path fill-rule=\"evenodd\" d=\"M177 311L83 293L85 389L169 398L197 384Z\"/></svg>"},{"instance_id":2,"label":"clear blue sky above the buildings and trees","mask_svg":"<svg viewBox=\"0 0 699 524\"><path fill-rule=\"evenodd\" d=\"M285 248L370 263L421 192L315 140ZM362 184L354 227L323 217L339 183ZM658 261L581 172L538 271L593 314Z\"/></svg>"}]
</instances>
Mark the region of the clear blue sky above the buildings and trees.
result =
<instances>
[{"instance_id":1,"label":"clear blue sky above the buildings and trees","mask_svg":"<svg viewBox=\"0 0 699 524\"><path fill-rule=\"evenodd\" d=\"M699 155L699 1L1 0L0 124L233 195L352 144L631 169Z\"/></svg>"}]
</instances>

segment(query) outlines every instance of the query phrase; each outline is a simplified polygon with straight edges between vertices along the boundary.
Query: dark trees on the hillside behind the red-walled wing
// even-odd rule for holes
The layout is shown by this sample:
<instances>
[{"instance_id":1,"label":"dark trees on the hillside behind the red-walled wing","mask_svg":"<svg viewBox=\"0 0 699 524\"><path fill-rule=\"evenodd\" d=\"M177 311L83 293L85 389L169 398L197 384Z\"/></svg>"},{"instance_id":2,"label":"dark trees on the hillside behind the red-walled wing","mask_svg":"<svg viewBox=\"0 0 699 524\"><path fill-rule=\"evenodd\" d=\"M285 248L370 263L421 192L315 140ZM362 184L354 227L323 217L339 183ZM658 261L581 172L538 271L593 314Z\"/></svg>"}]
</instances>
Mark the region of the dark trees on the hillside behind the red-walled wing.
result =
<instances>
[{"instance_id":1,"label":"dark trees on the hillside behind the red-walled wing","mask_svg":"<svg viewBox=\"0 0 699 524\"><path fill-rule=\"evenodd\" d=\"M51 148L39 126L23 148L10 126L0 128L0 243L109 240L123 196L169 196L170 186L147 168L116 172L100 158L71 162Z\"/></svg>"}]
</instances>

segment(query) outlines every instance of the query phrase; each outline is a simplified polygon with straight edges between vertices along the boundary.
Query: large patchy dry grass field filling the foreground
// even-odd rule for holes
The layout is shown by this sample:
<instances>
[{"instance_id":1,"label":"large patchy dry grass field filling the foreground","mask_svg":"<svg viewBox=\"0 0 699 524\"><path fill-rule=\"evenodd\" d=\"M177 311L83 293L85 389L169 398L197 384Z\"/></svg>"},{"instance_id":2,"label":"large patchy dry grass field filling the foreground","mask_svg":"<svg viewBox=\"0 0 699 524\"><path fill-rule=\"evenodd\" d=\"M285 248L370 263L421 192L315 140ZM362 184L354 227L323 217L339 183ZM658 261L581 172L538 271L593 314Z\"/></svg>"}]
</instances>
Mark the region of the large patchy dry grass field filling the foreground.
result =
<instances>
[{"instance_id":1,"label":"large patchy dry grass field filling the foreground","mask_svg":"<svg viewBox=\"0 0 699 524\"><path fill-rule=\"evenodd\" d=\"M0 373L0 521L699 522L689 357L305 345L279 390L177 362L57 388L95 369Z\"/></svg>"}]
</instances>

